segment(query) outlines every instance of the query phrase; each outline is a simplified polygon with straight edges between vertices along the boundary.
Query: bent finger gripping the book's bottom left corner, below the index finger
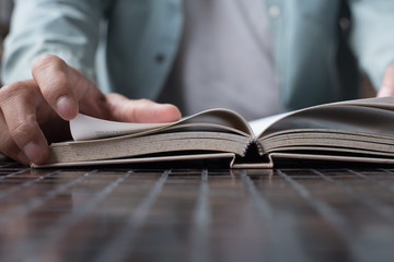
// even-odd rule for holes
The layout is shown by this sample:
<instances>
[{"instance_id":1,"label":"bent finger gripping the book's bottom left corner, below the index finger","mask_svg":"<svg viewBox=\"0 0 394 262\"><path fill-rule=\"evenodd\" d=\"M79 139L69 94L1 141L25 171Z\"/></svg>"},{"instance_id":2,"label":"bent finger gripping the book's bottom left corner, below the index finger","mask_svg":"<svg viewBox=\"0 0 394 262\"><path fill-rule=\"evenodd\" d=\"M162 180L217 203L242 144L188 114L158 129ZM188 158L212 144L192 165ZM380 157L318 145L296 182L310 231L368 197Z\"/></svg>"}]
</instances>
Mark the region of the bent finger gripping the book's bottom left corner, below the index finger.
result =
<instances>
[{"instance_id":1,"label":"bent finger gripping the book's bottom left corner, below the index finger","mask_svg":"<svg viewBox=\"0 0 394 262\"><path fill-rule=\"evenodd\" d=\"M5 123L1 129L7 127L12 141L36 164L44 163L48 156L48 145L36 120L36 108L42 103L45 103L44 98L34 81L16 82L0 90L0 105ZM4 146L5 152L7 146L12 150L10 144L5 143ZM18 156L19 159L23 157Z\"/></svg>"}]
</instances>

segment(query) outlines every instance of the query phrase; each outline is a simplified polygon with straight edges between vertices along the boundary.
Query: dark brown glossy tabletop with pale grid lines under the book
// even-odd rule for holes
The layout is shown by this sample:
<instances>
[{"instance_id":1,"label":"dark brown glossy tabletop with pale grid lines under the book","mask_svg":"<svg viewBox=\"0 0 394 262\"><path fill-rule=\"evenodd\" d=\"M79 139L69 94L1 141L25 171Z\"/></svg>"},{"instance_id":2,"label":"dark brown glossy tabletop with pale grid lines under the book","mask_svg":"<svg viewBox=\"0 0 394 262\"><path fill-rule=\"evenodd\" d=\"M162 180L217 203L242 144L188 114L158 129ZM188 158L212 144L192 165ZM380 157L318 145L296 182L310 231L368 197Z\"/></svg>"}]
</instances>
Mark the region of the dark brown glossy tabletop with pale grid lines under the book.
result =
<instances>
[{"instance_id":1,"label":"dark brown glossy tabletop with pale grid lines under the book","mask_svg":"<svg viewBox=\"0 0 394 262\"><path fill-rule=\"evenodd\" d=\"M387 167L0 166L0 261L394 261Z\"/></svg>"}]
</instances>

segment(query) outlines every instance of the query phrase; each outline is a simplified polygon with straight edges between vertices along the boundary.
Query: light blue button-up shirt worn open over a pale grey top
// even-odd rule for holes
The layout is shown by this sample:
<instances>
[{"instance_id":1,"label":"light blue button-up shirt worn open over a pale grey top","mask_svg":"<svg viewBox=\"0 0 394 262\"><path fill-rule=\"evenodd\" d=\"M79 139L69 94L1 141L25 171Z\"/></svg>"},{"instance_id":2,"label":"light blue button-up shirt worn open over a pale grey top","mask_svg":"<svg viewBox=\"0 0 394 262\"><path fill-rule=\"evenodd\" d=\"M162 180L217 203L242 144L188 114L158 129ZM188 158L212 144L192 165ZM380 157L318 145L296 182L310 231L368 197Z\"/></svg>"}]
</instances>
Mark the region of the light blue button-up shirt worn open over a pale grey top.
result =
<instances>
[{"instance_id":1,"label":"light blue button-up shirt worn open over a pale grey top","mask_svg":"<svg viewBox=\"0 0 394 262\"><path fill-rule=\"evenodd\" d=\"M336 66L341 2L266 0L285 108L357 95L357 74ZM378 88L394 62L394 1L348 2L351 49ZM182 10L181 0L15 0L4 44L3 82L30 79L33 60L54 53L93 81L108 80L112 91L155 99L176 56ZM105 56L97 50L105 50Z\"/></svg>"}]
</instances>

